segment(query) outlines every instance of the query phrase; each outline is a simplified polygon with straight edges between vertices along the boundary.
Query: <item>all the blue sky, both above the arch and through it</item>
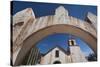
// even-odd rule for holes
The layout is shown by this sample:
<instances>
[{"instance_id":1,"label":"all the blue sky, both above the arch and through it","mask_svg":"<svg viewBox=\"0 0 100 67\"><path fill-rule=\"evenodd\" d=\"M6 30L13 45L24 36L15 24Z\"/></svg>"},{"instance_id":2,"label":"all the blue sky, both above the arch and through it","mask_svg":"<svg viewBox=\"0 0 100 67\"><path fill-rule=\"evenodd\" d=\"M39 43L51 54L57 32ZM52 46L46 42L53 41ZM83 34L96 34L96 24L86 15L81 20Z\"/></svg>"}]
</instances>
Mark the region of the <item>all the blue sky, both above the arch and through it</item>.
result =
<instances>
[{"instance_id":1,"label":"all the blue sky, both above the arch and through it","mask_svg":"<svg viewBox=\"0 0 100 67\"><path fill-rule=\"evenodd\" d=\"M92 12L97 15L96 6L87 5L72 5L72 4L55 4L55 3L38 3L38 2L22 2L13 1L12 15L21 11L25 8L32 8L36 17L54 15L55 9L59 6L64 6L65 9L69 11L70 16L84 20L86 18L87 12ZM74 36L75 37L75 36ZM42 39L37 47L40 49L41 53L46 53L50 48L55 45L63 47L65 50L68 47L67 41L69 39L68 34L54 34ZM87 44L80 38L75 37L77 44L81 47L82 51L88 55L92 50L87 46Z\"/></svg>"}]
</instances>

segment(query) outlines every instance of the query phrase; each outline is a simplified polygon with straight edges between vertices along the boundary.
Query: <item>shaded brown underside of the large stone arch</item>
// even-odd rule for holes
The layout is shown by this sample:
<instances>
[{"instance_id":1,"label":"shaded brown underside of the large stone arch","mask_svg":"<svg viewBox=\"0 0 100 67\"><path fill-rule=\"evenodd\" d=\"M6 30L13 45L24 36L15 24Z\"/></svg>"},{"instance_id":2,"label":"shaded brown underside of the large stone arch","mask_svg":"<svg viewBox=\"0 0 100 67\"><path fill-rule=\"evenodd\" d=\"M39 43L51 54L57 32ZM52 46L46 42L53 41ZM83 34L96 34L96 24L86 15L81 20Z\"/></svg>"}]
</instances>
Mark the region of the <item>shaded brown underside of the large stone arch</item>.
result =
<instances>
[{"instance_id":1,"label":"shaded brown underside of the large stone arch","mask_svg":"<svg viewBox=\"0 0 100 67\"><path fill-rule=\"evenodd\" d=\"M20 65L27 52L34 47L38 41L54 33L68 33L80 37L93 49L95 53L97 53L97 39L93 35L72 25L57 24L40 29L25 39L14 65Z\"/></svg>"}]
</instances>

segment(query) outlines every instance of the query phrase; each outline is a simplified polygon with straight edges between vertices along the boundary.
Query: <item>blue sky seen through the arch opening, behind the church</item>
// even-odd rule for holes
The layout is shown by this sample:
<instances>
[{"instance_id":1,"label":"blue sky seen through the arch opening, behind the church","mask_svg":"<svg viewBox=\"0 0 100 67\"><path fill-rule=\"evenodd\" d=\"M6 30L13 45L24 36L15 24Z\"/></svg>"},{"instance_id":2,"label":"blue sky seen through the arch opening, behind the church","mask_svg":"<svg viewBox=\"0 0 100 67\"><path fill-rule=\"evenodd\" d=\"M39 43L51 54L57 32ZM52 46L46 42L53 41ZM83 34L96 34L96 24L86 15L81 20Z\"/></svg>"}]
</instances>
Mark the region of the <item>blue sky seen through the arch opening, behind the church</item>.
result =
<instances>
[{"instance_id":1,"label":"blue sky seen through the arch opening, behind the church","mask_svg":"<svg viewBox=\"0 0 100 67\"><path fill-rule=\"evenodd\" d=\"M88 55L89 53L93 53L91 48L89 48L88 44L85 43L82 39L74 35L64 34L64 33L52 34L43 38L40 42L37 43L37 47L39 48L41 53L46 53L49 51L49 49L57 45L67 50L68 40L71 39L70 36L76 40L76 44L80 46L82 52L84 52L85 55Z\"/></svg>"}]
</instances>

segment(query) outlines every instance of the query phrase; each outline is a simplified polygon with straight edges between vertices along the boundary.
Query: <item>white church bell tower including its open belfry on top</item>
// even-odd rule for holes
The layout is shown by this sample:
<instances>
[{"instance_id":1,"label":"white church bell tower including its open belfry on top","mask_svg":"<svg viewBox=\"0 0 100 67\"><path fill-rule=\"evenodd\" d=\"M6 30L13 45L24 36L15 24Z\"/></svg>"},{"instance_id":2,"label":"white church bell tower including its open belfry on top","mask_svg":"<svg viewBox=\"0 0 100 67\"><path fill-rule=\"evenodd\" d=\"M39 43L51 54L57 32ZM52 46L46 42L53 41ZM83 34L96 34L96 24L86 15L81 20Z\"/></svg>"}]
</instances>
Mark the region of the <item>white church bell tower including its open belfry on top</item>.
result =
<instances>
[{"instance_id":1,"label":"white church bell tower including its open belfry on top","mask_svg":"<svg viewBox=\"0 0 100 67\"><path fill-rule=\"evenodd\" d=\"M85 55L80 49L80 46L76 44L76 40L71 38L68 40L69 51L71 56L71 62L86 62Z\"/></svg>"}]
</instances>

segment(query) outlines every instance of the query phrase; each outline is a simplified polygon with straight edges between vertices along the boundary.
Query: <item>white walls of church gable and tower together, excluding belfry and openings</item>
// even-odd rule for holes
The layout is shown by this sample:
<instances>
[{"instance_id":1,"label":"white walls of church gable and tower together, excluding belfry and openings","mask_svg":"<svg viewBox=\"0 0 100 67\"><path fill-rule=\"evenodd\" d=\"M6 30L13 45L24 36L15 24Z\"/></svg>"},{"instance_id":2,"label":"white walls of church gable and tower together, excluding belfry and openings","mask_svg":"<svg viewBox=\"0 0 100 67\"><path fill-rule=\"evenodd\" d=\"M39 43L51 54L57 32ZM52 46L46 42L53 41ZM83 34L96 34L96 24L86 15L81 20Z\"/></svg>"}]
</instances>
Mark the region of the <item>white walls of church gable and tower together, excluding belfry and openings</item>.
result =
<instances>
[{"instance_id":1,"label":"white walls of church gable and tower together, excluding belfry and openings","mask_svg":"<svg viewBox=\"0 0 100 67\"><path fill-rule=\"evenodd\" d=\"M87 62L87 59L85 58L85 55L83 54L79 46L75 45L69 47L70 47L69 55L67 55L65 52L56 47L41 58L40 64L53 64L55 61L60 61L61 64ZM59 57L55 57L56 50L59 51Z\"/></svg>"}]
</instances>

